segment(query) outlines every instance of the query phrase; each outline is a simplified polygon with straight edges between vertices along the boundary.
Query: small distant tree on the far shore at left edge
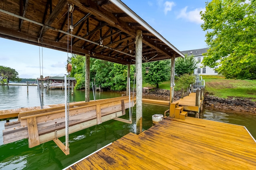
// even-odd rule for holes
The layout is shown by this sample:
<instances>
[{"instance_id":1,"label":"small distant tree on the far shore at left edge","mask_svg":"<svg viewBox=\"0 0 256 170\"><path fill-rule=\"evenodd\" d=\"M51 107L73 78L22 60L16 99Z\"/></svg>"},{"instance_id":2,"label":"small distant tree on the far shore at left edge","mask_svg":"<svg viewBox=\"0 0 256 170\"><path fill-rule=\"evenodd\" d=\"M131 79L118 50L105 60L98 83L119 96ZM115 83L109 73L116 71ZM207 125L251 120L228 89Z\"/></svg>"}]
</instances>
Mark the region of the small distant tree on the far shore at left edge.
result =
<instances>
[{"instance_id":1,"label":"small distant tree on the far shore at left edge","mask_svg":"<svg viewBox=\"0 0 256 170\"><path fill-rule=\"evenodd\" d=\"M15 69L6 66L0 66L0 79L6 79L7 84L9 84L10 81L20 82L21 79L18 77L18 75L19 73L16 72Z\"/></svg>"}]
</instances>

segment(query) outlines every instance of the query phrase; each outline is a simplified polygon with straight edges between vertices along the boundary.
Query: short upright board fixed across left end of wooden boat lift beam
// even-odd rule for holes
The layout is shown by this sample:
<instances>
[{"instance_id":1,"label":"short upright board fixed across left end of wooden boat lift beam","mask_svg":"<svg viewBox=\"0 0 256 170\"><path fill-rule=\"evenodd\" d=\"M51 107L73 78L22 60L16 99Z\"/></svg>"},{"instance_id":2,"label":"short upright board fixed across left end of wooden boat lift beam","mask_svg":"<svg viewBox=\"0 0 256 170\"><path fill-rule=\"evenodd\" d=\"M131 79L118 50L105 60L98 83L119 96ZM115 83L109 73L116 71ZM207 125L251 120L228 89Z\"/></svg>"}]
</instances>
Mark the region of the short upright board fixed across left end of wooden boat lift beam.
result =
<instances>
[{"instance_id":1,"label":"short upright board fixed across left end of wooden boat lift beam","mask_svg":"<svg viewBox=\"0 0 256 170\"><path fill-rule=\"evenodd\" d=\"M36 117L28 118L27 125L28 125L28 147L32 148L37 145L40 145Z\"/></svg>"}]
</instances>

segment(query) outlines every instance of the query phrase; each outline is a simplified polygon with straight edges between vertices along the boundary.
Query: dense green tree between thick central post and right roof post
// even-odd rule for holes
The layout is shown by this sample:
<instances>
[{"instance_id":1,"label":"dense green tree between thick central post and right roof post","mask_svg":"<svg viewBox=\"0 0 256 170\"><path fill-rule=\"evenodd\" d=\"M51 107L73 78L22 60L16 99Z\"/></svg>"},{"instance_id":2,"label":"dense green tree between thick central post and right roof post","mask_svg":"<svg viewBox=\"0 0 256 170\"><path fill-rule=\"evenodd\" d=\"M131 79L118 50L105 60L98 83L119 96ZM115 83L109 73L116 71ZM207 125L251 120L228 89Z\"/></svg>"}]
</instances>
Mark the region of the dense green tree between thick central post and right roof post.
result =
<instances>
[{"instance_id":1,"label":"dense green tree between thick central post and right roof post","mask_svg":"<svg viewBox=\"0 0 256 170\"><path fill-rule=\"evenodd\" d=\"M170 63L170 60L143 63L143 81L151 85L156 85L156 88L159 88L161 82L169 80L170 78ZM150 67L148 73L146 73L146 67Z\"/></svg>"}]
</instances>

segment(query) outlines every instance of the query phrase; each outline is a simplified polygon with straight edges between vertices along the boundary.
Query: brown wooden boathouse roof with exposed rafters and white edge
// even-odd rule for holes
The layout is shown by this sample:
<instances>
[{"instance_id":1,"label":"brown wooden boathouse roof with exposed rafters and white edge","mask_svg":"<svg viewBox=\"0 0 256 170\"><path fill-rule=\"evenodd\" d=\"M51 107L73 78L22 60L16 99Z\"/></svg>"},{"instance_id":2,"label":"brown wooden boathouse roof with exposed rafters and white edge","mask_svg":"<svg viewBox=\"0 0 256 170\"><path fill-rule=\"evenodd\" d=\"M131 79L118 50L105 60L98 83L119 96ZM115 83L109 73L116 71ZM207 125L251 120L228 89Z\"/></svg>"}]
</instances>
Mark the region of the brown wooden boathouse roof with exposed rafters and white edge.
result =
<instances>
[{"instance_id":1,"label":"brown wooden boathouse roof with exposed rafters and white edge","mask_svg":"<svg viewBox=\"0 0 256 170\"><path fill-rule=\"evenodd\" d=\"M138 29L143 63L183 56L120 0L3 0L0 6L0 37L60 51L72 45L74 54L114 63L135 64Z\"/></svg>"}]
</instances>

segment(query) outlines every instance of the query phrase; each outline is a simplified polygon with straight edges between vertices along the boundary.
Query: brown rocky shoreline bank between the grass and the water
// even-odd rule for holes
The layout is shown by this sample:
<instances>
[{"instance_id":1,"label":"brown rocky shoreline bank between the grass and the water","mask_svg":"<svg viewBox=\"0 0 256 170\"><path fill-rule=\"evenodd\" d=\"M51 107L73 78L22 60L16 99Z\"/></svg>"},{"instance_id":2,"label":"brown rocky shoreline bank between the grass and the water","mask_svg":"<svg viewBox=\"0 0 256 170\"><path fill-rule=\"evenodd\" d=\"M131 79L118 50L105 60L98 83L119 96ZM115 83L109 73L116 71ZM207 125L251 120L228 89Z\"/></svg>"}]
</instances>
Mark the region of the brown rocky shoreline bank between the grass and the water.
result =
<instances>
[{"instance_id":1,"label":"brown rocky shoreline bank between the grass and the water","mask_svg":"<svg viewBox=\"0 0 256 170\"><path fill-rule=\"evenodd\" d=\"M170 100L170 90L152 89L149 93L142 93L143 98L162 98L162 100ZM186 92L184 93L186 96ZM174 92L174 100L180 99L180 92ZM256 102L243 98L218 98L215 96L205 95L204 108L221 110L224 112L239 112L246 114L256 114Z\"/></svg>"}]
</instances>

